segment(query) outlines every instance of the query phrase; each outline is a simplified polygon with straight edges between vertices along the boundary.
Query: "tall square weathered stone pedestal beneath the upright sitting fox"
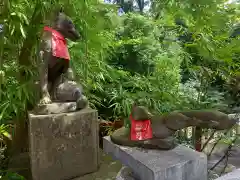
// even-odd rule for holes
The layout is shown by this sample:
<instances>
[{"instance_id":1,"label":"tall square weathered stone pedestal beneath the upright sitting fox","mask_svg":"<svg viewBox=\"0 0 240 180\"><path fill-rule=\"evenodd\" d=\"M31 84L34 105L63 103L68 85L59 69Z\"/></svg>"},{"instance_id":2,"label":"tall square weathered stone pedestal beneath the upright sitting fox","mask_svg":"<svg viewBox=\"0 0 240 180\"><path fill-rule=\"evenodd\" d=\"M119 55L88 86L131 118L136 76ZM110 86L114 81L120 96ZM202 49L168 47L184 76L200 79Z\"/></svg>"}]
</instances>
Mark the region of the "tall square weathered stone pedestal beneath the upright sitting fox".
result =
<instances>
[{"instance_id":1,"label":"tall square weathered stone pedestal beneath the upright sitting fox","mask_svg":"<svg viewBox=\"0 0 240 180\"><path fill-rule=\"evenodd\" d=\"M99 165L97 119L97 111L92 109L29 114L33 180L67 180L96 171Z\"/></svg>"}]
</instances>

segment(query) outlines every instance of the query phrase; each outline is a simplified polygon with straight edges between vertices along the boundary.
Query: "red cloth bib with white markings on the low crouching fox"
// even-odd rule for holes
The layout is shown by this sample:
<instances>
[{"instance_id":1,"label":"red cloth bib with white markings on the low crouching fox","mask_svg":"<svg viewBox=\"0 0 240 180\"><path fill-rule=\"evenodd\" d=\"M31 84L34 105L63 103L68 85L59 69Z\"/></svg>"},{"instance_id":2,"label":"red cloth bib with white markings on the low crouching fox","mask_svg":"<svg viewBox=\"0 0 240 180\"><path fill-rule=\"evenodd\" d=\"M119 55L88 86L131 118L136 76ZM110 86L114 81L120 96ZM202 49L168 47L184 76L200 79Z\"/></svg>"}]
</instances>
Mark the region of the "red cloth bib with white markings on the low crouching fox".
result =
<instances>
[{"instance_id":1,"label":"red cloth bib with white markings on the low crouching fox","mask_svg":"<svg viewBox=\"0 0 240 180\"><path fill-rule=\"evenodd\" d=\"M130 121L132 141L146 140L153 137L151 121L149 119L136 121L133 119L132 115L130 115Z\"/></svg>"}]
</instances>

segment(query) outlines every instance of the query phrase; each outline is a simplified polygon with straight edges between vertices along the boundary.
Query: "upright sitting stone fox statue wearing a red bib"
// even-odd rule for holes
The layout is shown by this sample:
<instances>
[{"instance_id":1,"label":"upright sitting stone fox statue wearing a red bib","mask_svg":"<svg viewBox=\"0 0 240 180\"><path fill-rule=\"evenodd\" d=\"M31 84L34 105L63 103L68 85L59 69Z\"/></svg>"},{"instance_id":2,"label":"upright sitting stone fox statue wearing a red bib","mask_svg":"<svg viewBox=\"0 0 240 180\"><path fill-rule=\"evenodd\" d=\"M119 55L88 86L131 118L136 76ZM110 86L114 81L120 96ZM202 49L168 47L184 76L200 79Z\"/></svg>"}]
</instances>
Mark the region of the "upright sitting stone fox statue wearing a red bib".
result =
<instances>
[{"instance_id":1,"label":"upright sitting stone fox statue wearing a red bib","mask_svg":"<svg viewBox=\"0 0 240 180\"><path fill-rule=\"evenodd\" d=\"M70 56L67 49L66 38L77 41L80 34L72 20L59 11L51 25L45 26L40 42L40 104L49 104L52 100L76 101L77 108L87 106L87 99L82 94L82 87L77 85L73 77L69 77ZM63 75L67 80L63 81Z\"/></svg>"}]
</instances>

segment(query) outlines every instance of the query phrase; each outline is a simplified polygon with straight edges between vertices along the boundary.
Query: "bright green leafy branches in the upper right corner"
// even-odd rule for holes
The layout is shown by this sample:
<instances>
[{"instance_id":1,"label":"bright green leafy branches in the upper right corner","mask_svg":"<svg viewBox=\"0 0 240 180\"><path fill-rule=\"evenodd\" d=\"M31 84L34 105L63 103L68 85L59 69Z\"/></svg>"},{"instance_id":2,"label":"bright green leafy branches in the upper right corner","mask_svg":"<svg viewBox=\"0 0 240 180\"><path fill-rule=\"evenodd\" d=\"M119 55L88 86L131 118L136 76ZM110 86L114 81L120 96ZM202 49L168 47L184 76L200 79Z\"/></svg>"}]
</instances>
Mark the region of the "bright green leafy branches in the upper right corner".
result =
<instances>
[{"instance_id":1,"label":"bright green leafy branches in the upper right corner","mask_svg":"<svg viewBox=\"0 0 240 180\"><path fill-rule=\"evenodd\" d=\"M225 4L226 1L156 1L153 4L153 14L161 12L158 19L162 22L167 17L170 28L175 27L176 18L183 20L188 28L178 28L185 57L182 69L183 79L192 78L195 66L201 66L211 71L212 80L208 86L215 91L225 93L229 105L237 105L236 97L231 92L228 82L231 75L239 71L239 40L230 39L235 24L238 23L239 5ZM161 9L161 11L160 11ZM229 98L226 93L231 93ZM231 99L231 100L230 100Z\"/></svg>"}]
</instances>

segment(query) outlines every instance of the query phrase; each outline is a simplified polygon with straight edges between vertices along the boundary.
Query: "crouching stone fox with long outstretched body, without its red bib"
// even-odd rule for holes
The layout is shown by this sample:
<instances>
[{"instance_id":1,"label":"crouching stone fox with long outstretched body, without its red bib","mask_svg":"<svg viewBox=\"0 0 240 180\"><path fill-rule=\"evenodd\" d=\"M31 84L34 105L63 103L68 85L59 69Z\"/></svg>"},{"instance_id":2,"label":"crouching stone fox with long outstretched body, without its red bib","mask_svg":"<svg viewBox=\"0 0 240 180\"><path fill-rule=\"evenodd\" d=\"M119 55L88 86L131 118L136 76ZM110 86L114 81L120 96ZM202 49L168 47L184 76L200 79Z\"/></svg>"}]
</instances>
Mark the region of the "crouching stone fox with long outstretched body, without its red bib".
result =
<instances>
[{"instance_id":1,"label":"crouching stone fox with long outstretched body, without its red bib","mask_svg":"<svg viewBox=\"0 0 240 180\"><path fill-rule=\"evenodd\" d=\"M131 116L135 121L150 119L152 138L133 141L130 137L130 128L122 127L110 136L113 143L130 147L169 150L176 146L173 135L177 130L189 126L224 130L231 128L237 122L219 111L190 110L170 112L160 116L151 115L145 107L136 105L132 108Z\"/></svg>"}]
</instances>

